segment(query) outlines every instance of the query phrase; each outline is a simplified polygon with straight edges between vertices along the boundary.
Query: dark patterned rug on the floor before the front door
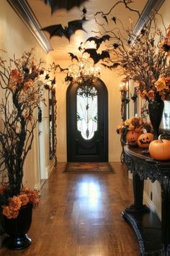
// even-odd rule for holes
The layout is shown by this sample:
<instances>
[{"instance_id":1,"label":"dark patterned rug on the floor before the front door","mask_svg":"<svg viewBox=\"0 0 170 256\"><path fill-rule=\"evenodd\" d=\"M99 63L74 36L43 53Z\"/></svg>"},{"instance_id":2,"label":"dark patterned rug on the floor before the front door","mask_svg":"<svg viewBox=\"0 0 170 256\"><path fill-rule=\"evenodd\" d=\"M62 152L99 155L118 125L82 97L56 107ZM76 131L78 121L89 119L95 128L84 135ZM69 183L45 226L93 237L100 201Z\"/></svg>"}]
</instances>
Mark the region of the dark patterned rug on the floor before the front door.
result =
<instances>
[{"instance_id":1,"label":"dark patterned rug on the floor before the front door","mask_svg":"<svg viewBox=\"0 0 170 256\"><path fill-rule=\"evenodd\" d=\"M64 173L68 174L115 174L109 162L99 163L66 163Z\"/></svg>"}]
</instances>

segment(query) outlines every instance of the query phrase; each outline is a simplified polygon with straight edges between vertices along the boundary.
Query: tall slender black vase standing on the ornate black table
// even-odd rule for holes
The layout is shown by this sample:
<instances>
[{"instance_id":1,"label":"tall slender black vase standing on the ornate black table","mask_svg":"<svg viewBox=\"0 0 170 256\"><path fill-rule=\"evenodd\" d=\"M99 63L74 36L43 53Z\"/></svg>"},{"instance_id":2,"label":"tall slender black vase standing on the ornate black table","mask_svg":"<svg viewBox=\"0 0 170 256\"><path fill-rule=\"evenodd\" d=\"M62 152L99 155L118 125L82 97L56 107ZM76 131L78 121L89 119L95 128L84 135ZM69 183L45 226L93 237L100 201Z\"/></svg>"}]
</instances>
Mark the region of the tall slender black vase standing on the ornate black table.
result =
<instances>
[{"instance_id":1,"label":"tall slender black vase standing on the ornate black table","mask_svg":"<svg viewBox=\"0 0 170 256\"><path fill-rule=\"evenodd\" d=\"M161 124L162 114L164 111L164 101L159 95L152 101L148 101L148 113L153 127L153 140L158 139L159 126Z\"/></svg>"}]
</instances>

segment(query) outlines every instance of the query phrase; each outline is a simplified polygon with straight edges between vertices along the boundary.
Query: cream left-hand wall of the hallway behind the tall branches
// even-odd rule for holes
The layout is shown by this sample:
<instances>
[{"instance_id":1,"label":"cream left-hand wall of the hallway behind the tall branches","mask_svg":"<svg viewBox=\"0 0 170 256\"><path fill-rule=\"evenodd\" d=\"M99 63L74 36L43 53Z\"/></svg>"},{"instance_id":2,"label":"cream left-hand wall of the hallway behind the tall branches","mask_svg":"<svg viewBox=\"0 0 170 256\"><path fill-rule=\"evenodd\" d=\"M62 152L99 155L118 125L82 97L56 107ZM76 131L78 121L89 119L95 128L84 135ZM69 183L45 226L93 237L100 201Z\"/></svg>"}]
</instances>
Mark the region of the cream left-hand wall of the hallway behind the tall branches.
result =
<instances>
[{"instance_id":1,"label":"cream left-hand wall of the hallway behind the tall branches","mask_svg":"<svg viewBox=\"0 0 170 256\"><path fill-rule=\"evenodd\" d=\"M39 60L41 58L46 61L47 65L53 62L50 58L50 54L47 55L45 51L42 50L33 35L6 0L1 0L0 24L0 48L6 50L9 57L14 56L15 54L16 58L19 58L24 51L30 51L32 47L35 47L35 59ZM47 149L47 152L45 153L45 166L50 169L53 167L53 162L50 162L48 158L48 118L46 119L45 125L45 148ZM24 163L24 184L29 187L40 187L37 129L35 129L32 150L28 153Z\"/></svg>"}]
</instances>

